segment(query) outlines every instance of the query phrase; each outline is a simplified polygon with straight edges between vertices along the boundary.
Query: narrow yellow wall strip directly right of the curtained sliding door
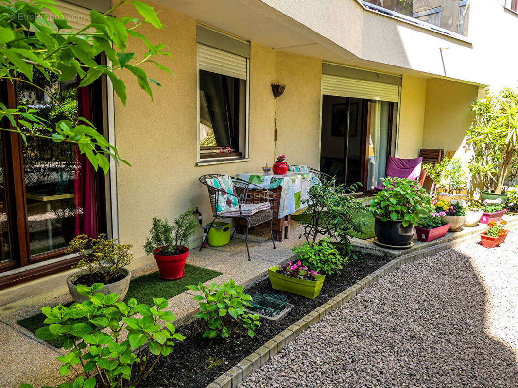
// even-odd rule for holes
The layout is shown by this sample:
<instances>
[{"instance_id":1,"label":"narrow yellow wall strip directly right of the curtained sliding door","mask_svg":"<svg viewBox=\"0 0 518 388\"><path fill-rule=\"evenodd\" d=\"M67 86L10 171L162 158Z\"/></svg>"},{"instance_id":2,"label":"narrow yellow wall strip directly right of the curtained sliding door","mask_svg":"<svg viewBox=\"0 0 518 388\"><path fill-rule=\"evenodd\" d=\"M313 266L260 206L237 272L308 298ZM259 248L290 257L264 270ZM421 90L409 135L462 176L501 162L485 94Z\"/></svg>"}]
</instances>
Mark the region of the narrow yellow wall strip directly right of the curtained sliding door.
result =
<instances>
[{"instance_id":1,"label":"narrow yellow wall strip directly right of the curtained sliding door","mask_svg":"<svg viewBox=\"0 0 518 388\"><path fill-rule=\"evenodd\" d=\"M397 153L400 158L415 158L423 142L426 104L426 79L403 76L399 107Z\"/></svg>"}]
</instances>

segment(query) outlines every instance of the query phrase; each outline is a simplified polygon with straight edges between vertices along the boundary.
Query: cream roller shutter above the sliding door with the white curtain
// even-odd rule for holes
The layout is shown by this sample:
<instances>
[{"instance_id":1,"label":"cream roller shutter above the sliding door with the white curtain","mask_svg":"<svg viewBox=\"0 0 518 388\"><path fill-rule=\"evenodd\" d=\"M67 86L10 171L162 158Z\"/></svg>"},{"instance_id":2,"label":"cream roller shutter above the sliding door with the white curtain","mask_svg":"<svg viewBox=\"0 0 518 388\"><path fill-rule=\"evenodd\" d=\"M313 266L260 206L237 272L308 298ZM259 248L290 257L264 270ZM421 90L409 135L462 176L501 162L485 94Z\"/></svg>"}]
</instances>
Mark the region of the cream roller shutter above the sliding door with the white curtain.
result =
<instances>
[{"instance_id":1,"label":"cream roller shutter above the sliding door with the white curtain","mask_svg":"<svg viewBox=\"0 0 518 388\"><path fill-rule=\"evenodd\" d=\"M322 94L398 102L399 86L322 74Z\"/></svg>"}]
</instances>

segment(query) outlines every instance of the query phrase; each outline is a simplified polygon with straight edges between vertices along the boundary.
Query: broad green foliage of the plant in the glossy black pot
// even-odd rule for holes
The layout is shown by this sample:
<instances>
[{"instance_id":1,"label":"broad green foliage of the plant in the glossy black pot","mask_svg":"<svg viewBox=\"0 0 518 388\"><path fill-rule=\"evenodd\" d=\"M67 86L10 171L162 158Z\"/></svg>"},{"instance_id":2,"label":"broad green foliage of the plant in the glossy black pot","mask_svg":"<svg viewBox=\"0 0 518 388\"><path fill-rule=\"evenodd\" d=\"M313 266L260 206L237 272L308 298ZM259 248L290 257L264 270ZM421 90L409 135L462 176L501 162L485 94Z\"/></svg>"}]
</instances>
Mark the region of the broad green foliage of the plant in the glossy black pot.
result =
<instances>
[{"instance_id":1,"label":"broad green foliage of the plant in the glossy black pot","mask_svg":"<svg viewBox=\"0 0 518 388\"><path fill-rule=\"evenodd\" d=\"M384 188L374 195L369 206L382 221L400 220L407 227L410 223L416 225L423 213L430 213L429 193L418 182L399 177L382 181Z\"/></svg>"}]
</instances>

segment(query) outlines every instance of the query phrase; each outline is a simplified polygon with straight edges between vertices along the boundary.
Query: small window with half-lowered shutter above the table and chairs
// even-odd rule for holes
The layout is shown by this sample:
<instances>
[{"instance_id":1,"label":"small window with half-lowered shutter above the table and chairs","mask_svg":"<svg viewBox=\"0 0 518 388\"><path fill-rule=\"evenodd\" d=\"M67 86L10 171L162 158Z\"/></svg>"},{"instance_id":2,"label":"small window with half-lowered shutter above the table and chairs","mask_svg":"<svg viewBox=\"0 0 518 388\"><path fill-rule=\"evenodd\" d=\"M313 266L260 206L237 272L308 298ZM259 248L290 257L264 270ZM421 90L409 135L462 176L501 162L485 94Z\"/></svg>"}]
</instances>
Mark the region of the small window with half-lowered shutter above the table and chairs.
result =
<instances>
[{"instance_id":1,"label":"small window with half-lowered shutter above the table and chairs","mask_svg":"<svg viewBox=\"0 0 518 388\"><path fill-rule=\"evenodd\" d=\"M198 26L198 162L247 157L249 50Z\"/></svg>"}]
</instances>

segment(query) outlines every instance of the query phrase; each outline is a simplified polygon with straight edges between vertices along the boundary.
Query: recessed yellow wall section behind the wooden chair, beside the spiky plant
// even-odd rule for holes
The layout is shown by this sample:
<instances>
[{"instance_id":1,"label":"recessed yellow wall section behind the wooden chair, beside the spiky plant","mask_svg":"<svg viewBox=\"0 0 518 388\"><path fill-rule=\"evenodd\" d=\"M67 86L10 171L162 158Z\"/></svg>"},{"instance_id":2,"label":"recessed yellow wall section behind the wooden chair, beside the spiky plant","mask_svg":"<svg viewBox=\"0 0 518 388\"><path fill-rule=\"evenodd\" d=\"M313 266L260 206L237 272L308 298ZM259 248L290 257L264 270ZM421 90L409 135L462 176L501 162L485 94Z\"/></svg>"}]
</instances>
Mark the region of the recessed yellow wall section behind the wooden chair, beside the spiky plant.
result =
<instances>
[{"instance_id":1,"label":"recessed yellow wall section behind the wooden chair, beside the spiky plant","mask_svg":"<svg viewBox=\"0 0 518 388\"><path fill-rule=\"evenodd\" d=\"M459 151L474 115L470 106L478 87L441 79L428 80L423 147ZM462 151L462 150L460 150Z\"/></svg>"}]
</instances>

